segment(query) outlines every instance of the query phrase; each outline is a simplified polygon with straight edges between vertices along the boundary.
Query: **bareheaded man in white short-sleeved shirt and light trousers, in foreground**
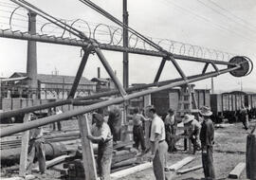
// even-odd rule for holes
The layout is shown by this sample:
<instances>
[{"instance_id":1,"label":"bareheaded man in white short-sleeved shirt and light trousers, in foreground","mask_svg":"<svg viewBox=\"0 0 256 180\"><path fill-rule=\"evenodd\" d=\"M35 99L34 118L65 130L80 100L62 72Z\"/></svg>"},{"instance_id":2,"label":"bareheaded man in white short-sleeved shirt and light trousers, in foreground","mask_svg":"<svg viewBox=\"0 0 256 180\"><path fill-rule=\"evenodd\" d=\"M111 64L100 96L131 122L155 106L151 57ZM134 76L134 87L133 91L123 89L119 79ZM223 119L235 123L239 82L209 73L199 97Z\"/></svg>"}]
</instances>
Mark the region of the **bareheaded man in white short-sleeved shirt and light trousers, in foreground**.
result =
<instances>
[{"instance_id":1,"label":"bareheaded man in white short-sleeved shirt and light trousers, in foreground","mask_svg":"<svg viewBox=\"0 0 256 180\"><path fill-rule=\"evenodd\" d=\"M166 155L168 145L165 141L165 128L163 120L156 115L155 108L149 109L149 117L152 118L151 125L151 157L156 180L165 180L164 169L166 166Z\"/></svg>"}]
</instances>

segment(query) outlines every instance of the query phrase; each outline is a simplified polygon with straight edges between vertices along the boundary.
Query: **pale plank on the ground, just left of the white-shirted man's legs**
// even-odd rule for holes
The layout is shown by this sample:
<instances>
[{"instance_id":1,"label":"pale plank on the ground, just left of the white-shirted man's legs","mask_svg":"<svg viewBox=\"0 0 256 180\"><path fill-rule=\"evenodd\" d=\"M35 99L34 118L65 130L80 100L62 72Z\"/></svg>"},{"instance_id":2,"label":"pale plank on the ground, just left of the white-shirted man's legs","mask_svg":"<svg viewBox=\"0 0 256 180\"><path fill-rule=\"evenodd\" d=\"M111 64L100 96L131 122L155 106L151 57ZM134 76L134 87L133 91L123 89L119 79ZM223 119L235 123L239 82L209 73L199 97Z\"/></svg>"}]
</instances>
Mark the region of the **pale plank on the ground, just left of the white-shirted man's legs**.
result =
<instances>
[{"instance_id":1,"label":"pale plank on the ground, just left of the white-shirted man's legs","mask_svg":"<svg viewBox=\"0 0 256 180\"><path fill-rule=\"evenodd\" d=\"M129 168L126 170L116 171L114 173L111 173L110 176L111 176L111 179L119 179L119 178L125 177L127 175L130 175L132 173L136 173L137 171L143 171L143 170L146 170L149 168L152 168L152 163L147 162L147 163L137 165L135 167L132 167L132 168Z\"/></svg>"}]
</instances>

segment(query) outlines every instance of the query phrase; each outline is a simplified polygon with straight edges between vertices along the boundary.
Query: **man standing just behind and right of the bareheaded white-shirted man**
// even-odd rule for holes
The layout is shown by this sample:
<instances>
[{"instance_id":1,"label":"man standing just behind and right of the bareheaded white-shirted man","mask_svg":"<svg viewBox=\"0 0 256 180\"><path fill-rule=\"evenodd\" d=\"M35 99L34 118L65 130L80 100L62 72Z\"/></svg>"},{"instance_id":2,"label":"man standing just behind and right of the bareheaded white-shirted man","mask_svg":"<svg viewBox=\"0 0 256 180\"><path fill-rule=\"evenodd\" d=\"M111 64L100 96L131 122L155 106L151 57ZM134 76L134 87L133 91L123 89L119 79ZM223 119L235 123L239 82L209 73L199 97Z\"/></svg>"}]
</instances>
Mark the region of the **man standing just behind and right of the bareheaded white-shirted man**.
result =
<instances>
[{"instance_id":1,"label":"man standing just behind and right of the bareheaded white-shirted man","mask_svg":"<svg viewBox=\"0 0 256 180\"><path fill-rule=\"evenodd\" d=\"M166 142L168 144L168 152L176 152L175 148L175 138L172 137L172 135L176 135L176 120L174 116L174 110L169 109L168 110L168 115L164 119L164 124L165 124L165 132L166 132Z\"/></svg>"}]
</instances>

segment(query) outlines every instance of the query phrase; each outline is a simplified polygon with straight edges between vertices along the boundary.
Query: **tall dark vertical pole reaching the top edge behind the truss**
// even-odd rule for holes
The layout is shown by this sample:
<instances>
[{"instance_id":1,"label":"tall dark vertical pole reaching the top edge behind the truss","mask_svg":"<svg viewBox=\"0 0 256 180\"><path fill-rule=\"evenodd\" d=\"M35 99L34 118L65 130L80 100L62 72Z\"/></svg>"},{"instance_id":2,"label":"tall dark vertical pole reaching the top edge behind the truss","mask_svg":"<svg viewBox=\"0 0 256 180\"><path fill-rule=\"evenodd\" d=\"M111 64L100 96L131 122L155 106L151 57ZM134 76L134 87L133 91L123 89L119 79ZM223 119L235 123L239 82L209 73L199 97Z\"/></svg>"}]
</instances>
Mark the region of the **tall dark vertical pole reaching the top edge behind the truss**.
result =
<instances>
[{"instance_id":1,"label":"tall dark vertical pole reaching the top edge behind the truss","mask_svg":"<svg viewBox=\"0 0 256 180\"><path fill-rule=\"evenodd\" d=\"M125 26L128 26L128 11L127 11L127 0L122 2L122 22ZM123 35L123 46L128 47L128 29L122 27ZM123 87L128 88L129 86L129 55L128 52L123 52Z\"/></svg>"}]
</instances>

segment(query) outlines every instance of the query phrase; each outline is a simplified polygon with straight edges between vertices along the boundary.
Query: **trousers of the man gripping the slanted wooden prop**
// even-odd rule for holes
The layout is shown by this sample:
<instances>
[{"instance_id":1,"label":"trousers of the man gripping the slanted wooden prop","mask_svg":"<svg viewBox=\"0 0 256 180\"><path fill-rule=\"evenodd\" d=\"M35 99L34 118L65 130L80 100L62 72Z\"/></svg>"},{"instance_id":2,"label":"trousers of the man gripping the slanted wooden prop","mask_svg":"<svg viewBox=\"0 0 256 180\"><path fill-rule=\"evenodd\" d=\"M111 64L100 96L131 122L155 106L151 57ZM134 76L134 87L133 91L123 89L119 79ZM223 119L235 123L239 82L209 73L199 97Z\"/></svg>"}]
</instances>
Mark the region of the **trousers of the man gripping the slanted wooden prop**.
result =
<instances>
[{"instance_id":1,"label":"trousers of the man gripping the slanted wooden prop","mask_svg":"<svg viewBox=\"0 0 256 180\"><path fill-rule=\"evenodd\" d=\"M113 141L99 143L97 165L101 180L110 180Z\"/></svg>"}]
</instances>

